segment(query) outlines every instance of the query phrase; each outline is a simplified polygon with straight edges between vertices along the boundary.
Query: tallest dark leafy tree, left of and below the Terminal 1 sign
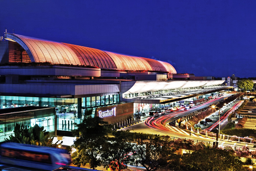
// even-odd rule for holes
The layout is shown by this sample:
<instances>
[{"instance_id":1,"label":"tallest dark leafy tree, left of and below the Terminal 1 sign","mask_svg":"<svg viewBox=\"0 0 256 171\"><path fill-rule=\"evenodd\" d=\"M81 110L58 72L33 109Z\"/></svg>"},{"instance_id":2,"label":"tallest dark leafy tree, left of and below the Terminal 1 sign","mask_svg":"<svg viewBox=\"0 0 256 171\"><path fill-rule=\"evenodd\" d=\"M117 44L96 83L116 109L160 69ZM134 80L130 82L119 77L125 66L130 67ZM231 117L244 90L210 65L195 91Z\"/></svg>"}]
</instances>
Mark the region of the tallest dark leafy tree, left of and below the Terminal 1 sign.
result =
<instances>
[{"instance_id":1,"label":"tallest dark leafy tree, left of and below the Terminal 1 sign","mask_svg":"<svg viewBox=\"0 0 256 171\"><path fill-rule=\"evenodd\" d=\"M101 166L102 148L107 143L108 135L113 126L100 117L92 117L92 109L87 110L80 124L74 124L77 129L73 132L77 136L74 147L77 149L72 154L72 163L80 167L89 163L90 168Z\"/></svg>"}]
</instances>

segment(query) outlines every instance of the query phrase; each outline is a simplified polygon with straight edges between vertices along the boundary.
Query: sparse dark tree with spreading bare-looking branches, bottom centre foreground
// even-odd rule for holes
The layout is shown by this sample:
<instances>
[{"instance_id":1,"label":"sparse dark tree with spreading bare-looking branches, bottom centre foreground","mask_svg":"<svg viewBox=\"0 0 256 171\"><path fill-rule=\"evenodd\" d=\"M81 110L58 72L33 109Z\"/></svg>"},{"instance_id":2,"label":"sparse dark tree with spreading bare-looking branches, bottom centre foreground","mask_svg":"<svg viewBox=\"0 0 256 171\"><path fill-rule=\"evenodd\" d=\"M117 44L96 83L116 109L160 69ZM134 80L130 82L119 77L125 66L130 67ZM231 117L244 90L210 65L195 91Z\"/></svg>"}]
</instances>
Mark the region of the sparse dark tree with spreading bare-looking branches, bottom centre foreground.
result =
<instances>
[{"instance_id":1,"label":"sparse dark tree with spreading bare-looking branches, bottom centre foreground","mask_svg":"<svg viewBox=\"0 0 256 171\"><path fill-rule=\"evenodd\" d=\"M179 166L179 156L174 154L176 150L176 146L170 146L167 140L155 138L136 145L133 157L147 170L157 170L159 167Z\"/></svg>"}]
</instances>

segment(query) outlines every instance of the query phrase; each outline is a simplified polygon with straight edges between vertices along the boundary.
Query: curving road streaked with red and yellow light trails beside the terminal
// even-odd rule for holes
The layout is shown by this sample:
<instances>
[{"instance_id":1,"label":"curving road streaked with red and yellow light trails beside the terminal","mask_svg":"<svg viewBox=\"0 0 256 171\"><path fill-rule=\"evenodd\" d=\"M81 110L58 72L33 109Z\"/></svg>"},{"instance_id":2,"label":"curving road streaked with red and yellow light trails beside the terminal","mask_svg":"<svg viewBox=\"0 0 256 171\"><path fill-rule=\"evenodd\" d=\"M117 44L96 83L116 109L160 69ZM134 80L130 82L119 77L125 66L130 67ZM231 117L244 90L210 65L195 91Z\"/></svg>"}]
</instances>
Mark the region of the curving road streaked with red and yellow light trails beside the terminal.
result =
<instances>
[{"instance_id":1,"label":"curving road streaked with red and yellow light trails beside the terminal","mask_svg":"<svg viewBox=\"0 0 256 171\"><path fill-rule=\"evenodd\" d=\"M146 134L157 134L157 135L168 135L171 138L190 138L193 139L195 142L196 141L205 141L209 143L213 143L216 141L215 138L212 137L205 137L196 133L189 133L184 129L175 127L175 126L169 126L168 123L175 121L177 118L183 117L188 115L189 113L198 111L200 109L206 108L218 101L223 100L226 97L231 96L232 94L226 94L225 96L221 96L217 99L210 100L208 102L205 102L203 104L197 105L192 107L191 109L185 110L185 111L176 111L172 113L167 113L165 112L165 115L153 118L153 117L148 117L144 122L140 122L134 125L131 125L129 127L123 128L124 130L126 129L131 129L131 132L139 132L139 133L146 133ZM239 105L241 105L242 102L238 102L233 104L233 106L230 106L227 108L226 112L223 112L223 116L221 115L220 117L220 124L223 124L228 117L228 114L230 112L233 112ZM216 128L218 128L218 123L219 123L219 117L215 117L215 122L209 123L207 127L204 127L208 131L214 131ZM204 129L203 128L203 129ZM231 145L231 146L236 146L236 147L242 147L243 145L249 146L250 149L253 148L253 144L250 143L241 143L241 142L231 142L231 141L226 141L226 140L219 140L219 146L223 145Z\"/></svg>"}]
</instances>

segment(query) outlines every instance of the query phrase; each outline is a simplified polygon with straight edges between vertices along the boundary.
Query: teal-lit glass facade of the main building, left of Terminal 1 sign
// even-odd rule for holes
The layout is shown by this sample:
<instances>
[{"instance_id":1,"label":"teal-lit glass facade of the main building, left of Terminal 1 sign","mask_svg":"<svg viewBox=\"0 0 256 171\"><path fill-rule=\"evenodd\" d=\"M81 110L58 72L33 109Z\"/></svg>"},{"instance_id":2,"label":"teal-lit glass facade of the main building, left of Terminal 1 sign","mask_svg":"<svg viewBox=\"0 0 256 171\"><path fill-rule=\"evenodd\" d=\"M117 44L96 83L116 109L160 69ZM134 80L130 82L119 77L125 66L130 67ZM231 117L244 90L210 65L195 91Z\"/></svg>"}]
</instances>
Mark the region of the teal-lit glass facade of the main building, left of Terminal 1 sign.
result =
<instances>
[{"instance_id":1,"label":"teal-lit glass facade of the main building, left of Terminal 1 sign","mask_svg":"<svg viewBox=\"0 0 256 171\"><path fill-rule=\"evenodd\" d=\"M78 101L81 105L78 105ZM17 97L0 96L0 108L12 108L23 106L45 106L55 107L56 110L56 129L71 131L74 129L74 123L80 123L86 109L93 109L92 116L96 107L117 104L120 101L119 94L106 96L78 98L47 98L47 97ZM79 109L78 106L81 106ZM36 122L36 121L35 121Z\"/></svg>"}]
</instances>

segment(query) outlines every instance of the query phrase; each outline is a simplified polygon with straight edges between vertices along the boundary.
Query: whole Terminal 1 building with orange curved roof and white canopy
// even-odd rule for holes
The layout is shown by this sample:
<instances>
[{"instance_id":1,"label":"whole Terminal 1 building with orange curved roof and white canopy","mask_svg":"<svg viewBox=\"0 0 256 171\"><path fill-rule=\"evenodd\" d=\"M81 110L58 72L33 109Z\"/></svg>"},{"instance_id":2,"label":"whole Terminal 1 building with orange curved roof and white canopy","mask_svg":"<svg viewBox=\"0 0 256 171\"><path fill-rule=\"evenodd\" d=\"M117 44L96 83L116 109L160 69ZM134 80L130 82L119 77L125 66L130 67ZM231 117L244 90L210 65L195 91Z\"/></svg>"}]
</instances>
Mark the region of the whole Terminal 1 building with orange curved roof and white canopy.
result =
<instances>
[{"instance_id":1,"label":"whole Terminal 1 building with orange curved roof and white canopy","mask_svg":"<svg viewBox=\"0 0 256 171\"><path fill-rule=\"evenodd\" d=\"M134 122L135 113L202 103L232 88L222 80L166 81L176 73L163 61L5 33L0 41L0 111L39 106L51 112L34 109L36 115L23 119L0 112L0 142L13 133L15 123L72 136L73 123L80 123L87 109L111 124L127 124Z\"/></svg>"}]
</instances>

